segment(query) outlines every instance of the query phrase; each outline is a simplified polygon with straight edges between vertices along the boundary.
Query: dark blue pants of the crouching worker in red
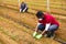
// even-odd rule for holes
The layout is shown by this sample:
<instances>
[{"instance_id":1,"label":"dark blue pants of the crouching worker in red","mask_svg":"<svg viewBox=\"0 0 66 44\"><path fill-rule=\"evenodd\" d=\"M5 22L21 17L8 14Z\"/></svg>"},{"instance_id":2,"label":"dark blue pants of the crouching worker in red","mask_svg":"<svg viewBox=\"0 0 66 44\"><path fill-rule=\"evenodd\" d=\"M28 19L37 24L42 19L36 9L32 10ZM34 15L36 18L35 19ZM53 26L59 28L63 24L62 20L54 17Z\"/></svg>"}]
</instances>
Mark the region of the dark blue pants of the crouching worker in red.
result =
<instances>
[{"instance_id":1,"label":"dark blue pants of the crouching worker in red","mask_svg":"<svg viewBox=\"0 0 66 44\"><path fill-rule=\"evenodd\" d=\"M40 24L37 29L41 30L41 31L44 31L44 30L45 30L45 25ZM46 31L46 33L47 33L48 35L53 35L54 32L55 32L57 29L58 29L58 25L52 24L52 25L48 28L48 31Z\"/></svg>"}]
</instances>

